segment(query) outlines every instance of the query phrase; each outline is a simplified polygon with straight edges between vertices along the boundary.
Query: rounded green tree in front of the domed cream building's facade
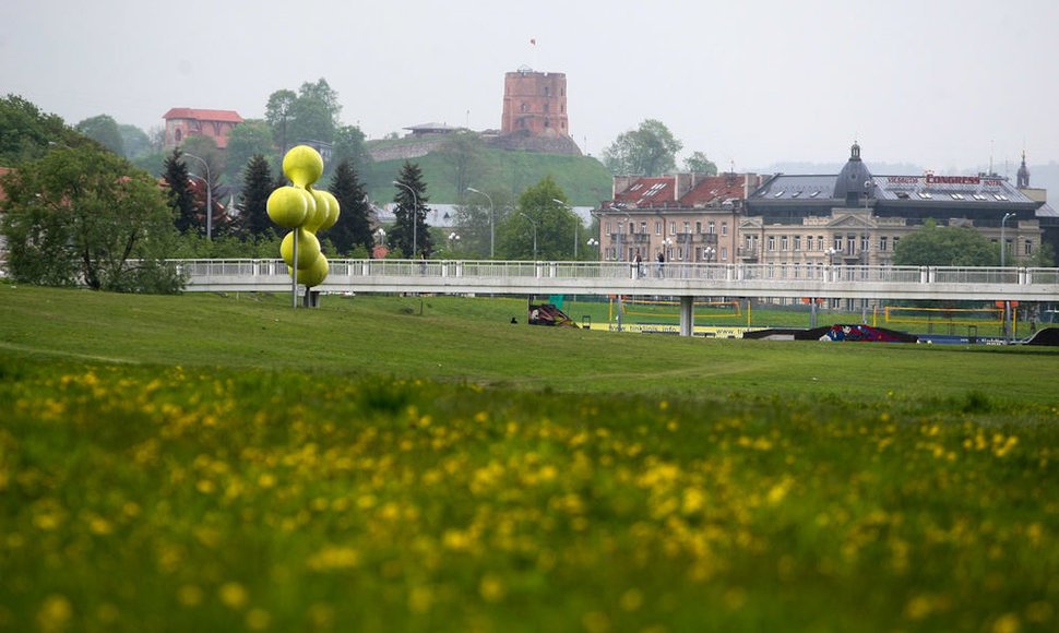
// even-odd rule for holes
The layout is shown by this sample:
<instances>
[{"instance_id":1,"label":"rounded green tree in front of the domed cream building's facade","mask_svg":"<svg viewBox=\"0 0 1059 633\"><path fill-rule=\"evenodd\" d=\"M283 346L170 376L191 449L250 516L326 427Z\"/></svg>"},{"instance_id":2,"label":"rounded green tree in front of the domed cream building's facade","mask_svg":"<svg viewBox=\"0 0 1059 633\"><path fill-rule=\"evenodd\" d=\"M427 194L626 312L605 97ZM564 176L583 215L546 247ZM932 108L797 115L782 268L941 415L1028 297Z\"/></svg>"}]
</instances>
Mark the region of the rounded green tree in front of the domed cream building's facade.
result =
<instances>
[{"instance_id":1,"label":"rounded green tree in front of the domed cream building's facade","mask_svg":"<svg viewBox=\"0 0 1059 633\"><path fill-rule=\"evenodd\" d=\"M999 244L965 226L939 227L927 219L923 228L901 238L894 248L899 266L996 266Z\"/></svg>"}]
</instances>

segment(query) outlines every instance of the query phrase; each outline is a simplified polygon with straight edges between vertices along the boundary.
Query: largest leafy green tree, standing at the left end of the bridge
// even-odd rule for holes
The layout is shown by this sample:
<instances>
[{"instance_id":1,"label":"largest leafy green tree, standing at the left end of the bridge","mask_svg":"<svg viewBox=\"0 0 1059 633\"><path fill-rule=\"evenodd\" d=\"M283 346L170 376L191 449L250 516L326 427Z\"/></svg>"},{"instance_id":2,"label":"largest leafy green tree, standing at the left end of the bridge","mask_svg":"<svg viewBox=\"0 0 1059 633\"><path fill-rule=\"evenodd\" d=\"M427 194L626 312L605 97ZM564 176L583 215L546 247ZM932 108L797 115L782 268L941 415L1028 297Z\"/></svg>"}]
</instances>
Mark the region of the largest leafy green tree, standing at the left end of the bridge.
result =
<instances>
[{"instance_id":1,"label":"largest leafy green tree, standing at the left end of the bridge","mask_svg":"<svg viewBox=\"0 0 1059 633\"><path fill-rule=\"evenodd\" d=\"M158 182L112 153L56 147L0 177L9 270L31 284L172 292L176 235Z\"/></svg>"}]
</instances>

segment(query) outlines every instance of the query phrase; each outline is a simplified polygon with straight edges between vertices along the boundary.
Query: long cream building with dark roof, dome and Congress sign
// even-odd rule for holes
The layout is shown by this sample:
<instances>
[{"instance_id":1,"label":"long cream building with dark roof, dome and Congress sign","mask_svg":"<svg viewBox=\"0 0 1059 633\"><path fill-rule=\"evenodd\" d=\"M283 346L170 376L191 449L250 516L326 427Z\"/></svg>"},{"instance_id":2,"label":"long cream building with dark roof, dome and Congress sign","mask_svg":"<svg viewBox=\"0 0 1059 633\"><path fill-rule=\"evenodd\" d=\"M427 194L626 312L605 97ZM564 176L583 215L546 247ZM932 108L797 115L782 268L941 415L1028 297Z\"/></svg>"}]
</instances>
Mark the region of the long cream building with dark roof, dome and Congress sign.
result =
<instances>
[{"instance_id":1,"label":"long cream building with dark roof, dome and Congress sign","mask_svg":"<svg viewBox=\"0 0 1059 633\"><path fill-rule=\"evenodd\" d=\"M1018 184L1028 186L1028 178L1023 162ZM995 242L1002 236L1008 265L1031 262L1046 229L1059 224L1043 200L1000 176L874 175L854 143L837 175L765 180L739 219L738 256L793 273L837 263L890 265L901 239L928 218L973 227Z\"/></svg>"}]
</instances>

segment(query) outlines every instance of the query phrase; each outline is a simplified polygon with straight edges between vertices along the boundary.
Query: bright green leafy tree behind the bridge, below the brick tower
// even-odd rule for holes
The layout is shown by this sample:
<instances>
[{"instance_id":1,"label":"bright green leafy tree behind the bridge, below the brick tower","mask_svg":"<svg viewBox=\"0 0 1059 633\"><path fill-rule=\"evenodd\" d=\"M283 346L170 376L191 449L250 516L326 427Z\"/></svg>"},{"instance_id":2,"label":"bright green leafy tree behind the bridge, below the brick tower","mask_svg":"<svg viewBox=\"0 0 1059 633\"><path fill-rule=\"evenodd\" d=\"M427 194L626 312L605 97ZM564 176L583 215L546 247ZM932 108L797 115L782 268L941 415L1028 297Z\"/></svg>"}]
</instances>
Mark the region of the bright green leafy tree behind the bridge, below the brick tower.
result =
<instances>
[{"instance_id":1,"label":"bright green leafy tree behind the bridge, below the brick tower","mask_svg":"<svg viewBox=\"0 0 1059 633\"><path fill-rule=\"evenodd\" d=\"M581 220L566 200L550 176L523 191L514 213L499 229L503 254L521 260L573 259L574 225Z\"/></svg>"}]
</instances>

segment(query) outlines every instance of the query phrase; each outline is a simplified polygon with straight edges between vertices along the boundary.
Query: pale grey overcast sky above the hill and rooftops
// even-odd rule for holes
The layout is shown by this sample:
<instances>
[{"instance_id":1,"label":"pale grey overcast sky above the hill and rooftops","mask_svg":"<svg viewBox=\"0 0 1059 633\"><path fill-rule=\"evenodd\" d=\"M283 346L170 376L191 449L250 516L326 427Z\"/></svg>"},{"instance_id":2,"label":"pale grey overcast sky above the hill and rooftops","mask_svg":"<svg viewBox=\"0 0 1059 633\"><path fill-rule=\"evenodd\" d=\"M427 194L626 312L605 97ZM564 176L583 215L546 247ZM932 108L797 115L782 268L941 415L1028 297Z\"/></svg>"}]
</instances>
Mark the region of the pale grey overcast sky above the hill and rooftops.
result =
<instances>
[{"instance_id":1,"label":"pale grey overcast sky above the hill and rooftops","mask_svg":"<svg viewBox=\"0 0 1059 633\"><path fill-rule=\"evenodd\" d=\"M1055 0L34 0L0 7L0 93L70 124L171 107L261 118L323 77L342 120L500 127L503 75L567 74L593 155L658 119L723 169L843 162L938 172L1059 160ZM531 45L531 39L536 45Z\"/></svg>"}]
</instances>

